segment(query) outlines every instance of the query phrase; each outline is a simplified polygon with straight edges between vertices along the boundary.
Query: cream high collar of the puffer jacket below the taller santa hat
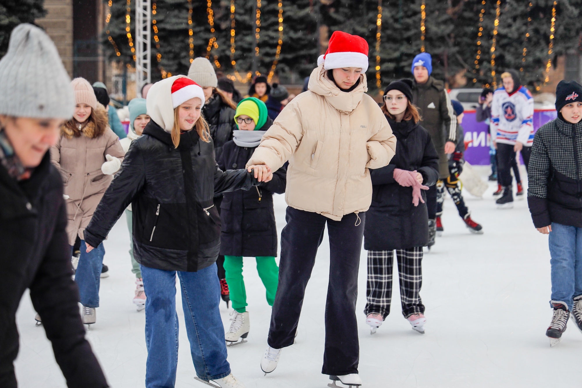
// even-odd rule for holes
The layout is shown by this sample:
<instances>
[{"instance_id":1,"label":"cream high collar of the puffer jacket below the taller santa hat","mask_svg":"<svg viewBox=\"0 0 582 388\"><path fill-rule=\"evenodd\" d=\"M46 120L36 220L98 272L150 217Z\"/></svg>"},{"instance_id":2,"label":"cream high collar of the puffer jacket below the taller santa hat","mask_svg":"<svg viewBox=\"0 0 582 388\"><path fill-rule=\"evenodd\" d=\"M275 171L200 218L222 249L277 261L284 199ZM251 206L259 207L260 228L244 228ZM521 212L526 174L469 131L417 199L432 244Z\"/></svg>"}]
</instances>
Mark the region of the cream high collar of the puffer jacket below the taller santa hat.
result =
<instances>
[{"instance_id":1,"label":"cream high collar of the puffer jacket below the taller santa hat","mask_svg":"<svg viewBox=\"0 0 582 388\"><path fill-rule=\"evenodd\" d=\"M350 113L360 103L364 92L368 91L367 81L365 74L360 75L360 84L356 89L345 93L339 90L333 80L327 77L327 70L323 68L323 65L318 66L311 72L309 78L309 84L307 89L315 94L319 94L325 98L333 108L340 112Z\"/></svg>"}]
</instances>

